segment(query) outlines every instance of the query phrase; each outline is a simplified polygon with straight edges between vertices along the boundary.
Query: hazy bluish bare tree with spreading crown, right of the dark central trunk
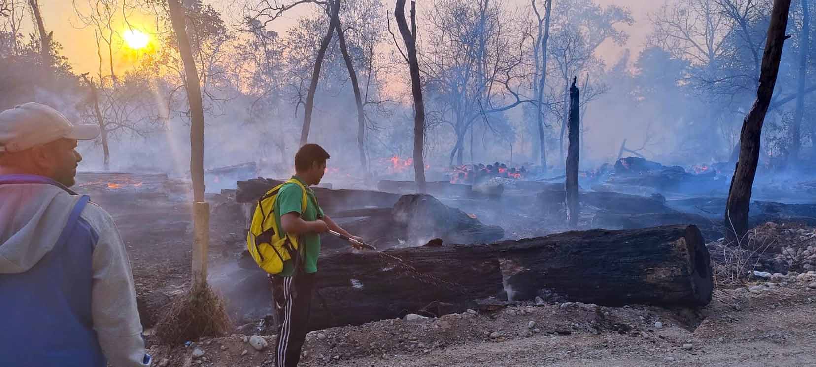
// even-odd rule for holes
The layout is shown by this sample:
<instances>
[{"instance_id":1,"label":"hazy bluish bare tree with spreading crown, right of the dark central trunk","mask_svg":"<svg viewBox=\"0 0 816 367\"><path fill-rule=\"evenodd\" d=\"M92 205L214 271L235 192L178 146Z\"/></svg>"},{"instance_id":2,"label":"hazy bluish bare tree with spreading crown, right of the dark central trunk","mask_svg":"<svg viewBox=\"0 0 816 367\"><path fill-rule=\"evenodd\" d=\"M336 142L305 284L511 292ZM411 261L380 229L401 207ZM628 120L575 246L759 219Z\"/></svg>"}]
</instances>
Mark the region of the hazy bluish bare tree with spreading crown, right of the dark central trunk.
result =
<instances>
[{"instance_id":1,"label":"hazy bluish bare tree with spreading crown, right of the dark central trunk","mask_svg":"<svg viewBox=\"0 0 816 367\"><path fill-rule=\"evenodd\" d=\"M489 0L477 3L436 2L429 15L429 51L422 54L428 89L440 104L450 106L455 145L450 151L463 163L464 138L475 122L490 122L490 115L522 103L524 34L513 29L517 14ZM529 80L529 79L528 79Z\"/></svg>"}]
</instances>

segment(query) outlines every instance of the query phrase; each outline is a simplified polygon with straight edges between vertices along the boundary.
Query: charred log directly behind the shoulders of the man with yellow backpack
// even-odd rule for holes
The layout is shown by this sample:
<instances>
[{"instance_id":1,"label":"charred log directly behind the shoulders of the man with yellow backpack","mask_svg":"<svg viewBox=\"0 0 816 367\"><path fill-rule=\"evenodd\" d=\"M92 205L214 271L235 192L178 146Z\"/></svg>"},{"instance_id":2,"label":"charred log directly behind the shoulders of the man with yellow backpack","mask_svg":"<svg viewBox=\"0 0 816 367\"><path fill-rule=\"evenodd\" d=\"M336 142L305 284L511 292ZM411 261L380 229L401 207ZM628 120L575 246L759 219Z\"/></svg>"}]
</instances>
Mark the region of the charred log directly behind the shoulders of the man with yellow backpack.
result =
<instances>
[{"instance_id":1,"label":"charred log directly behind the shoulders of the man with yellow backpack","mask_svg":"<svg viewBox=\"0 0 816 367\"><path fill-rule=\"evenodd\" d=\"M237 182L235 200L238 202L255 203L275 186L283 184L277 179L248 179ZM329 188L313 188L317 195L317 200L326 214L333 214L348 208L361 208L365 206L392 206L399 199L399 195L389 192L379 192L370 190L332 190Z\"/></svg>"}]
</instances>

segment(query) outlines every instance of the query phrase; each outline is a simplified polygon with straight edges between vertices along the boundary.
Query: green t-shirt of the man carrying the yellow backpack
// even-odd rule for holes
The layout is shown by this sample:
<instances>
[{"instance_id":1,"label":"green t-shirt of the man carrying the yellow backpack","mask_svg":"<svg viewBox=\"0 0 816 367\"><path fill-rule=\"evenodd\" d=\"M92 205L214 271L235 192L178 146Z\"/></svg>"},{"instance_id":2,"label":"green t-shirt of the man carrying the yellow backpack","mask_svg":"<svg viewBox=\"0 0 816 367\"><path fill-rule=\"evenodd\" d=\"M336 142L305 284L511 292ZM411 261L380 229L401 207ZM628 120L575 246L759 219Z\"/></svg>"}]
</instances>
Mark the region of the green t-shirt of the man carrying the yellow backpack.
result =
<instances>
[{"instance_id":1,"label":"green t-shirt of the man carrying the yellow backpack","mask_svg":"<svg viewBox=\"0 0 816 367\"><path fill-rule=\"evenodd\" d=\"M281 216L287 213L298 213L300 214L300 218L307 222L317 220L318 217L323 217L323 210L317 204L317 197L314 196L312 189L308 188L308 185L297 176L292 176L292 179L297 179L300 184L303 184L304 188L306 188L308 204L306 205L305 212L301 213L303 191L301 191L296 184L283 185L281 191L277 193L277 199L275 200L275 221L277 221L277 228L282 228ZM304 254L304 271L317 272L317 257L320 256L320 235L317 233L301 235L299 244L304 247L303 249L299 249L302 250L301 254ZM292 260L286 260L283 263L283 270L280 276L291 276L294 269Z\"/></svg>"}]
</instances>

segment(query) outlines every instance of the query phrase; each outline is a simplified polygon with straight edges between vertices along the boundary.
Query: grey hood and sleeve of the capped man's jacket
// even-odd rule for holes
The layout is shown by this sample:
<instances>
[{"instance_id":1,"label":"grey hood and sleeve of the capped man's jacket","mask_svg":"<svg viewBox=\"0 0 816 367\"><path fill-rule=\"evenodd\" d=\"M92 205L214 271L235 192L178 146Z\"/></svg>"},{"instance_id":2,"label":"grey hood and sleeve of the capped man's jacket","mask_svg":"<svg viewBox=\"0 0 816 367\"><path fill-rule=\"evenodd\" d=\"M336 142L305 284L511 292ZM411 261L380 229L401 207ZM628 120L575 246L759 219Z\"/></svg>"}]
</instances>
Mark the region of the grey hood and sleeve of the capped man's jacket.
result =
<instances>
[{"instance_id":1,"label":"grey hood and sleeve of the capped man's jacket","mask_svg":"<svg viewBox=\"0 0 816 367\"><path fill-rule=\"evenodd\" d=\"M79 199L51 184L0 185L0 276L25 272L48 254ZM81 217L99 236L91 259L91 316L100 347L114 367L144 366L142 327L125 245L110 214L100 206L88 203Z\"/></svg>"}]
</instances>

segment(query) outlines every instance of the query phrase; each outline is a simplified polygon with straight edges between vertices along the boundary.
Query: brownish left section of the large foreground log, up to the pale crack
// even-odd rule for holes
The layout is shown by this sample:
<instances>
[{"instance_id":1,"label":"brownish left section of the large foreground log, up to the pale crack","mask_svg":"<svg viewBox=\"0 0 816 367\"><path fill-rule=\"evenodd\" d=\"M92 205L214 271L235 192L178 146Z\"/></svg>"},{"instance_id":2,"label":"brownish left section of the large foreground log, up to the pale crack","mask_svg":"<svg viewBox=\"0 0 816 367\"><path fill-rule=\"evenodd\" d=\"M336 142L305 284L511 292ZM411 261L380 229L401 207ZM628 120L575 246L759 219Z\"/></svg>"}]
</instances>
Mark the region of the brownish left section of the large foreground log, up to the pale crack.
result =
<instances>
[{"instance_id":1,"label":"brownish left section of the large foreground log, up to the pale crack","mask_svg":"<svg viewBox=\"0 0 816 367\"><path fill-rule=\"evenodd\" d=\"M468 301L502 290L499 261L487 245L415 247L384 254L322 255L309 329L401 317L433 302L449 303L448 312L462 312ZM269 281L263 271L240 269L229 279L220 291L236 320L258 320L271 312Z\"/></svg>"}]
</instances>

